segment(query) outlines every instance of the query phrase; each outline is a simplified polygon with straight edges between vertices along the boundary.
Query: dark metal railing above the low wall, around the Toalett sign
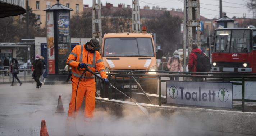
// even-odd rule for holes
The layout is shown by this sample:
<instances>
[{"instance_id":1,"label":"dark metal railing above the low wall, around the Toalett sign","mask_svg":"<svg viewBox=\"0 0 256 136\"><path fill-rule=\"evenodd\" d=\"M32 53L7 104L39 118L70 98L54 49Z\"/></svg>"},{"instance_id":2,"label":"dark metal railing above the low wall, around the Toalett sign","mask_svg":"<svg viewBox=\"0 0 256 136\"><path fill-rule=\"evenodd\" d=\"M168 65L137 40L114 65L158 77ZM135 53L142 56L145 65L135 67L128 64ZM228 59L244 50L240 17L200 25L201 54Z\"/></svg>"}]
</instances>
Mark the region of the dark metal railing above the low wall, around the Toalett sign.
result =
<instances>
[{"instance_id":1,"label":"dark metal railing above the low wall, around the Toalett sign","mask_svg":"<svg viewBox=\"0 0 256 136\"><path fill-rule=\"evenodd\" d=\"M191 78L191 77L201 77L205 78L205 81L207 81L207 78L218 78L220 81L230 80L230 79L236 79L238 81L241 81L241 83L237 82L232 82L233 85L242 85L242 99L232 99L232 101L242 101L242 112L244 112L244 102L256 102L256 100L251 100L251 99L245 99L245 81L246 79L256 79L256 73L221 73L221 72L171 72L171 71L154 71L156 73L165 73L165 74L133 74L134 72L152 72L152 71L144 71L144 70L114 70L114 71L109 71L108 73L108 79L113 85L116 83L117 76L119 76L123 81L123 86L124 86L124 80L129 80L129 92L131 94L131 86L132 86L132 78L133 80L136 77L138 80L140 77L157 77L158 78L158 94L159 94L159 106L162 106L162 101L161 101L161 82L166 82L166 80L161 80L161 77L170 77L170 76L175 76L175 77L186 77L186 78ZM120 74L120 73L113 73L113 72L129 72L128 74ZM113 82L112 79L115 79ZM256 81L256 80L255 80ZM104 89L103 89L103 94L105 94L105 84L103 84ZM140 87L140 84L138 84ZM140 89L142 89L140 87ZM142 89L143 90L143 89ZM124 87L122 89L124 92ZM144 91L143 91L144 92ZM112 95L112 88L108 88L108 98L111 99ZM146 95L146 94L145 94ZM105 97L105 96L103 96ZM148 98L148 97L147 97ZM149 99L149 98L148 98Z\"/></svg>"}]
</instances>

